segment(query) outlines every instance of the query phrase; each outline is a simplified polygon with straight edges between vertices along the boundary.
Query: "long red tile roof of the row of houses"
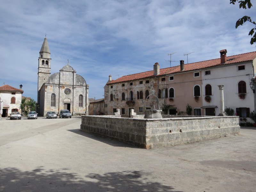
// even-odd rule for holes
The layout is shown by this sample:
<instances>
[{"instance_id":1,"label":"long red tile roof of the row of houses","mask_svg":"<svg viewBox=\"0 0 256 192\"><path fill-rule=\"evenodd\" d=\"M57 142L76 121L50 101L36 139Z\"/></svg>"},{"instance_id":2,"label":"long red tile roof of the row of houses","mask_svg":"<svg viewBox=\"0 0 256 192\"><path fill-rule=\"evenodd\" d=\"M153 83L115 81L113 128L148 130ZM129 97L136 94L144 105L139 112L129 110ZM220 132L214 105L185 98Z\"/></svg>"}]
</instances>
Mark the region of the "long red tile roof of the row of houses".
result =
<instances>
[{"instance_id":1,"label":"long red tile roof of the row of houses","mask_svg":"<svg viewBox=\"0 0 256 192\"><path fill-rule=\"evenodd\" d=\"M156 76L162 76L162 75L169 75L174 73L180 73L184 71L193 71L213 66L220 66L220 65L228 65L233 63L239 63L239 62L245 62L245 61L252 61L256 57L256 52L249 52L249 53L243 53L239 55L233 55L227 57L226 63L221 63L220 58L218 59L212 59L212 60L206 60L206 61L200 61L196 63L188 63L184 65L184 70L180 71L180 66L174 66L169 68L163 68L160 69L160 73ZM132 75L126 75L122 76L116 80L112 80L108 82L107 84L113 84L113 83L119 83L124 81L132 81L136 79L143 79L154 76L154 71L146 71L142 73L136 73Z\"/></svg>"}]
</instances>

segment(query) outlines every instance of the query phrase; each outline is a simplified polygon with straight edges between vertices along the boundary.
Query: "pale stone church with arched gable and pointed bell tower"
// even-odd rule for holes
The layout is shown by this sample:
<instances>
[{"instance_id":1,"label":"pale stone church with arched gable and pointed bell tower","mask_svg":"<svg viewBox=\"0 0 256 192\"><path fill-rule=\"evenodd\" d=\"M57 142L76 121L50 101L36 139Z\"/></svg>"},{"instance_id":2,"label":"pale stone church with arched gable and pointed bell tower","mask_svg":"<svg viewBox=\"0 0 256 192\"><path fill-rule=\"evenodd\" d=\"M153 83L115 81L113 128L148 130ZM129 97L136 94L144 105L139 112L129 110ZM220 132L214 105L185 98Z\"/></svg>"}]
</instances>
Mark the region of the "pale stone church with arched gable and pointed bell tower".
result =
<instances>
[{"instance_id":1,"label":"pale stone church with arched gable and pointed bell tower","mask_svg":"<svg viewBox=\"0 0 256 192\"><path fill-rule=\"evenodd\" d=\"M47 111L59 114L68 109L72 115L88 115L89 85L69 64L51 75L50 55L45 37L38 58L37 113L45 116Z\"/></svg>"}]
</instances>

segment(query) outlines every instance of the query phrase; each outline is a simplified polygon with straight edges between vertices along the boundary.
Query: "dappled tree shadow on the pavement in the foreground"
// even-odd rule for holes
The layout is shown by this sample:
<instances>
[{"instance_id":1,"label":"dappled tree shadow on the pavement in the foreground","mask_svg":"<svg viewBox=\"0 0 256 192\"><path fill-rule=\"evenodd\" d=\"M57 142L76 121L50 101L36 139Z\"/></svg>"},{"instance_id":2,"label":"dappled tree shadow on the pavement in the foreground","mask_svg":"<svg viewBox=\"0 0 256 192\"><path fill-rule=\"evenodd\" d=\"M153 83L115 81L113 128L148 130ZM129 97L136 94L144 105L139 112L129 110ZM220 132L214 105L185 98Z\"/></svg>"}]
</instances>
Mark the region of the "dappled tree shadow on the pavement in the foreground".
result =
<instances>
[{"instance_id":1,"label":"dappled tree shadow on the pavement in the foreground","mask_svg":"<svg viewBox=\"0 0 256 192\"><path fill-rule=\"evenodd\" d=\"M103 175L90 173L83 177L68 173L62 169L44 170L38 167L32 171L21 171L17 168L0 169L0 191L26 192L76 192L76 191L152 191L178 192L173 187L158 182L151 182L147 175L140 171L108 172ZM181 191L180 191L181 192Z\"/></svg>"}]
</instances>

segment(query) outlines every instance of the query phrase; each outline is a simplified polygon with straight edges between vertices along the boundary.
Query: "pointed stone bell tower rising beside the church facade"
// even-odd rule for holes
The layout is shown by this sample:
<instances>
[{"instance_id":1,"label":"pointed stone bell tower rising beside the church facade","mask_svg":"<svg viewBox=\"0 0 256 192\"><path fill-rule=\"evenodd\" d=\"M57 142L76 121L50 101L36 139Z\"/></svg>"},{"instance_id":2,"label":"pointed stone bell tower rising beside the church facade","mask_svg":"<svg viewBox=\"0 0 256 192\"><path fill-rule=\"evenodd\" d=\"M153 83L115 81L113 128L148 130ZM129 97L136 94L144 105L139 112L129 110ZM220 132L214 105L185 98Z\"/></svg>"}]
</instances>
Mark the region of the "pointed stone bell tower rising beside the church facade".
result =
<instances>
[{"instance_id":1,"label":"pointed stone bell tower rising beside the church facade","mask_svg":"<svg viewBox=\"0 0 256 192\"><path fill-rule=\"evenodd\" d=\"M40 89L44 83L47 82L51 75L51 52L46 39L44 38L44 43L39 52L38 58L38 83L37 83L37 103L40 104Z\"/></svg>"}]
</instances>

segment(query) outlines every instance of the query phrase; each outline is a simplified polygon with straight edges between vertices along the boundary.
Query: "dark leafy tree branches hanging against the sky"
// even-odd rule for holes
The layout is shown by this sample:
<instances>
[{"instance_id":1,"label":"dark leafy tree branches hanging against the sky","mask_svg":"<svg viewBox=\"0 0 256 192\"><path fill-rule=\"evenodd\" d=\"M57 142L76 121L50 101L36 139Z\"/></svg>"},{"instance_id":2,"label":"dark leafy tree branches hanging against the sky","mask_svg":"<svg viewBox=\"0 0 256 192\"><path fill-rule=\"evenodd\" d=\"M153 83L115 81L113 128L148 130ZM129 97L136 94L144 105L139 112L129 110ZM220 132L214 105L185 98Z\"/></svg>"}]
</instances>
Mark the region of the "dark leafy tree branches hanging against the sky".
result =
<instances>
[{"instance_id":1,"label":"dark leafy tree branches hanging against the sky","mask_svg":"<svg viewBox=\"0 0 256 192\"><path fill-rule=\"evenodd\" d=\"M230 0L230 4L235 4L236 2L239 3L239 8L243 8L243 9L250 9L252 7L252 3L251 0L244 0L244 1L240 1L240 0ZM240 25L243 25L246 21L249 21L250 23L252 23L255 27L252 28L249 32L248 35L251 35L251 41L250 43L253 44L256 42L256 33L254 30L256 30L256 23L255 21L252 21L251 17L248 16L244 16L242 18L240 18L239 20L236 21L236 28Z\"/></svg>"}]
</instances>

